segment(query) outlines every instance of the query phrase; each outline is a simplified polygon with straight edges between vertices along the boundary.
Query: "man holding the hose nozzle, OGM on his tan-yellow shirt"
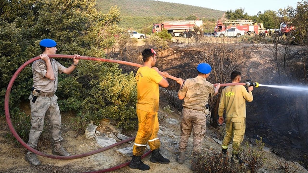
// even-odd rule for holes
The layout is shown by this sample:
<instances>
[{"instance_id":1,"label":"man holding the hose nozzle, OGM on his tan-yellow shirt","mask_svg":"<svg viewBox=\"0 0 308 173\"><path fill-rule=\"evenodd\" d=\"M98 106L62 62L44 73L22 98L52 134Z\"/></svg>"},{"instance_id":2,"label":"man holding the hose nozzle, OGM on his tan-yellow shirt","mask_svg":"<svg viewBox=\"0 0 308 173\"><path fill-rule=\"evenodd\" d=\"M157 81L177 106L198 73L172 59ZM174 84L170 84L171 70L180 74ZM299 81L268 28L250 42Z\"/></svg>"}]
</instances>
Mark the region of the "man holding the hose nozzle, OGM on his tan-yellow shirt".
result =
<instances>
[{"instance_id":1,"label":"man holding the hose nozzle, OGM on his tan-yellow shirt","mask_svg":"<svg viewBox=\"0 0 308 173\"><path fill-rule=\"evenodd\" d=\"M231 73L232 82L241 81L241 73L233 71ZM222 90L221 99L218 108L218 122L224 122L223 113L226 111L226 135L222 142L221 148L224 154L227 154L228 146L233 137L232 158L236 156L240 163L244 163L239 155L238 149L243 142L246 128L246 100L252 102L253 87L248 87L248 92L243 85L227 86Z\"/></svg>"}]
</instances>

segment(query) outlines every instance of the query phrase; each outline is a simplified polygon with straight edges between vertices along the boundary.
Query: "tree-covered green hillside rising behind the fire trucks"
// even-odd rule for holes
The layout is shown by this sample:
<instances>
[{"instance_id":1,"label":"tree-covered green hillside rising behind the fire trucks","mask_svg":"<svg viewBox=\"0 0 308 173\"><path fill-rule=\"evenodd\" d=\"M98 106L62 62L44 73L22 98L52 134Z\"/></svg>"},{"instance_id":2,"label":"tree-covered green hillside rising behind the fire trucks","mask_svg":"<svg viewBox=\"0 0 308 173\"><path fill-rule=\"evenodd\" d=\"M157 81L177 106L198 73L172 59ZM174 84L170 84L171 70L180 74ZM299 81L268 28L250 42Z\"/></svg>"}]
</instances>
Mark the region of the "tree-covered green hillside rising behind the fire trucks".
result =
<instances>
[{"instance_id":1,"label":"tree-covered green hillside rising behind the fire trucks","mask_svg":"<svg viewBox=\"0 0 308 173\"><path fill-rule=\"evenodd\" d=\"M98 0L98 8L106 13L111 6L120 8L122 21L119 26L135 30L166 20L221 18L224 11L179 3L145 0ZM193 18L191 18L193 16Z\"/></svg>"}]
</instances>

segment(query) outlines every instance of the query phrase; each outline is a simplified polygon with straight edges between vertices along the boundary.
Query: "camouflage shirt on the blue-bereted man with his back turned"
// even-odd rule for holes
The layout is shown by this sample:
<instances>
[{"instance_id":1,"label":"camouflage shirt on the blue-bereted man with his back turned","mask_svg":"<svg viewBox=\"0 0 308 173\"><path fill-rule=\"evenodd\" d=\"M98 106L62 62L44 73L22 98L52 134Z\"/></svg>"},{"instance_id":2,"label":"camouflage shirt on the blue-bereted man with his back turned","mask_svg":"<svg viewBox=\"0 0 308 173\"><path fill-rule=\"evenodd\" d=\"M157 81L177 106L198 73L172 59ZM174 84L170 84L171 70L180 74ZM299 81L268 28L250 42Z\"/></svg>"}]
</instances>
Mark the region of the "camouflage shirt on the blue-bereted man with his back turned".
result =
<instances>
[{"instance_id":1,"label":"camouflage shirt on the blue-bereted man with his back turned","mask_svg":"<svg viewBox=\"0 0 308 173\"><path fill-rule=\"evenodd\" d=\"M200 111L205 109L209 98L214 94L214 85L201 76L186 79L179 90L179 95L184 97L183 107Z\"/></svg>"}]
</instances>

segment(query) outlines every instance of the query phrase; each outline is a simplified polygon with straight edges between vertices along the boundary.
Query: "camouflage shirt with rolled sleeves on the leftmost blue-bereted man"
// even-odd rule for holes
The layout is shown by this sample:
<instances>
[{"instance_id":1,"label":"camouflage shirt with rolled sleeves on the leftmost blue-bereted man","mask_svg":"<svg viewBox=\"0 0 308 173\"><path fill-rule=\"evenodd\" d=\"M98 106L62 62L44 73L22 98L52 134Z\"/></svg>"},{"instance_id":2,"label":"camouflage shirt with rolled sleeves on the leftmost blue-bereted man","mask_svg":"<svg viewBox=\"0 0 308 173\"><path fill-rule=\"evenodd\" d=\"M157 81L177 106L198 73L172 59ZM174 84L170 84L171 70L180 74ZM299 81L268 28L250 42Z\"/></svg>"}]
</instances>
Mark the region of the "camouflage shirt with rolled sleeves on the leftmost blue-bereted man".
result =
<instances>
[{"instance_id":1,"label":"camouflage shirt with rolled sleeves on the leftmost blue-bereted man","mask_svg":"<svg viewBox=\"0 0 308 173\"><path fill-rule=\"evenodd\" d=\"M45 78L47 73L46 62L42 59L36 60L32 64L32 74L33 74L33 87L42 91L43 93L55 93L58 87L58 73L62 73L64 66L62 66L55 59L50 59L52 69L55 74L55 80L50 80Z\"/></svg>"}]
</instances>

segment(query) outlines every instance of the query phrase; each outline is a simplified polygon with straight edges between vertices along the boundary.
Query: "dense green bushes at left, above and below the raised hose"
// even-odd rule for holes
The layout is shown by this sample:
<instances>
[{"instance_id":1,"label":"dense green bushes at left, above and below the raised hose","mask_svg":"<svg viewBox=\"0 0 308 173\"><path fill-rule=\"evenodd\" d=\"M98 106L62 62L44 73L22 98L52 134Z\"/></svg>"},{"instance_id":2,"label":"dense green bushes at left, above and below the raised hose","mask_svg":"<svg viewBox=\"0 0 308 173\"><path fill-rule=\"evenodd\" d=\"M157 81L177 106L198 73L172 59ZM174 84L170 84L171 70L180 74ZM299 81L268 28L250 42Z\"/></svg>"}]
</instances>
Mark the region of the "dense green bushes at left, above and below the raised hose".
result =
<instances>
[{"instance_id":1,"label":"dense green bushes at left, above and below the raised hose","mask_svg":"<svg viewBox=\"0 0 308 173\"><path fill-rule=\"evenodd\" d=\"M58 54L80 54L105 57L104 49L116 42L120 21L119 9L111 7L102 14L95 0L2 1L0 10L0 114L4 116L4 95L17 68L40 53L43 38L54 39ZM57 59L70 66L71 59ZM59 75L61 111L75 111L80 121L98 121L101 117L128 123L135 115L136 92L133 74L122 74L116 64L80 61L71 75ZM31 66L27 66L14 82L10 95L13 123L21 123L19 103L28 102L33 84ZM21 126L23 127L23 125ZM24 126L24 129L28 127ZM18 131L21 134L22 131ZM27 133L25 133L27 134ZM23 138L26 140L25 138Z\"/></svg>"}]
</instances>

